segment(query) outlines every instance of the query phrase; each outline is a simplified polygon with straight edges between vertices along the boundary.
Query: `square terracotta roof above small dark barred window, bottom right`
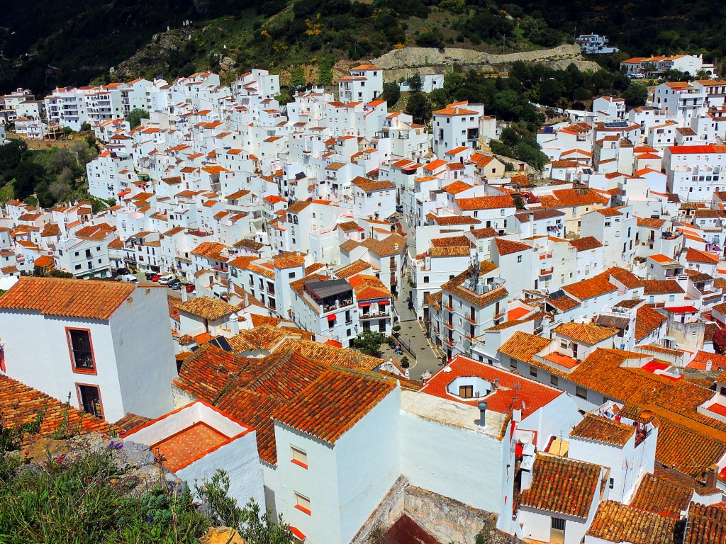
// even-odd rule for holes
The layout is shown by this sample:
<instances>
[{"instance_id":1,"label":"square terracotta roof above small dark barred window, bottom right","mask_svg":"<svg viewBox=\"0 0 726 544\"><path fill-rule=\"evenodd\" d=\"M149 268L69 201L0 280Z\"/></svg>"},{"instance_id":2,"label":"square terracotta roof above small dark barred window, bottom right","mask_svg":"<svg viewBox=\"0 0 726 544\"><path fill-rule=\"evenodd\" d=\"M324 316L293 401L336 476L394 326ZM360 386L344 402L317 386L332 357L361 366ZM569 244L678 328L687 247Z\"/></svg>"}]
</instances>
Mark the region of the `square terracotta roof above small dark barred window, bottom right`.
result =
<instances>
[{"instance_id":1,"label":"square terracotta roof above small dark barred window, bottom right","mask_svg":"<svg viewBox=\"0 0 726 544\"><path fill-rule=\"evenodd\" d=\"M599 465L555 456L538 455L532 482L522 492L521 506L587 518L600 480Z\"/></svg>"}]
</instances>

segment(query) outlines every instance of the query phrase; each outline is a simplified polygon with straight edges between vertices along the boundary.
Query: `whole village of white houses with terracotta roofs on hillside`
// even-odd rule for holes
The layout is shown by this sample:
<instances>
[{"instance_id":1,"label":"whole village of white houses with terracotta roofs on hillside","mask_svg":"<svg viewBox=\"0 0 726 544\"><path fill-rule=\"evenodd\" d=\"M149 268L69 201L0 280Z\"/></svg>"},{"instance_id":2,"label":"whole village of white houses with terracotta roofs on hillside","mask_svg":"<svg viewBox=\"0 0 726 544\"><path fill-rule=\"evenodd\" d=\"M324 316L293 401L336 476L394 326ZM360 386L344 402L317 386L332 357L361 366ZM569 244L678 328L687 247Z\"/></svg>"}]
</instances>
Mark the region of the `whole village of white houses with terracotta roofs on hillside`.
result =
<instances>
[{"instance_id":1,"label":"whole village of white houses with terracotta roofs on hillside","mask_svg":"<svg viewBox=\"0 0 726 544\"><path fill-rule=\"evenodd\" d=\"M624 66L657 62L703 69ZM5 202L0 414L49 433L70 399L302 543L473 542L489 516L532 544L725 542L726 82L566 110L539 173L489 151L481 104L429 128L383 75L284 105L266 70L0 97L26 139L89 124L115 202ZM353 349L371 332L391 347Z\"/></svg>"}]
</instances>

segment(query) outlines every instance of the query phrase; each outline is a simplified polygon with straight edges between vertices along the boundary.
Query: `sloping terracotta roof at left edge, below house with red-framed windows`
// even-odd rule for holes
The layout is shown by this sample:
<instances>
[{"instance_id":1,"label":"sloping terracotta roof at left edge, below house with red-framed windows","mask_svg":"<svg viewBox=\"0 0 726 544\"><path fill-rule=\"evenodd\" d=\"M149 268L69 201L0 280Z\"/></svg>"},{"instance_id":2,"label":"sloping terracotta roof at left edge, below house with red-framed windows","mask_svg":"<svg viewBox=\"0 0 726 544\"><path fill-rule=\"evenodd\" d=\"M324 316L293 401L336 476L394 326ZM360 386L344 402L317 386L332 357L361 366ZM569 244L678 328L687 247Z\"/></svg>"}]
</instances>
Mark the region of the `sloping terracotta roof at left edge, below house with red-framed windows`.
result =
<instances>
[{"instance_id":1,"label":"sloping terracotta roof at left edge, below house with red-framed windows","mask_svg":"<svg viewBox=\"0 0 726 544\"><path fill-rule=\"evenodd\" d=\"M0 414L5 426L17 428L25 423L30 423L43 411L40 434L44 436L57 432L61 425L66 424L64 421L66 417L68 418L68 428L79 429L80 434L108 433L110 429L113 429L113 426L102 419L77 408L66 407L65 403L60 400L0 374Z\"/></svg>"}]
</instances>

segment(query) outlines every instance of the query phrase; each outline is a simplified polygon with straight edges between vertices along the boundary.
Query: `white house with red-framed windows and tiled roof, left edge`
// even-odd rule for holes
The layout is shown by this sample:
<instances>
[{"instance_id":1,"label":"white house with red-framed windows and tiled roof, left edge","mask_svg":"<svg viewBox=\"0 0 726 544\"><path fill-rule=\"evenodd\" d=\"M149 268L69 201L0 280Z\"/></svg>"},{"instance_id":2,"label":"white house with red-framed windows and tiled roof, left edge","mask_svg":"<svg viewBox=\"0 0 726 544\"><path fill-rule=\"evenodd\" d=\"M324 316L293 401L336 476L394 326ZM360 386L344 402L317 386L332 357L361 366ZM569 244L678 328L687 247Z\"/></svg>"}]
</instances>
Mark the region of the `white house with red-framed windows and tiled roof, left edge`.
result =
<instances>
[{"instance_id":1,"label":"white house with red-framed windows and tiled roof, left edge","mask_svg":"<svg viewBox=\"0 0 726 544\"><path fill-rule=\"evenodd\" d=\"M23 277L0 300L6 374L107 421L158 417L176 376L164 289ZM33 349L28 349L32 345Z\"/></svg>"}]
</instances>

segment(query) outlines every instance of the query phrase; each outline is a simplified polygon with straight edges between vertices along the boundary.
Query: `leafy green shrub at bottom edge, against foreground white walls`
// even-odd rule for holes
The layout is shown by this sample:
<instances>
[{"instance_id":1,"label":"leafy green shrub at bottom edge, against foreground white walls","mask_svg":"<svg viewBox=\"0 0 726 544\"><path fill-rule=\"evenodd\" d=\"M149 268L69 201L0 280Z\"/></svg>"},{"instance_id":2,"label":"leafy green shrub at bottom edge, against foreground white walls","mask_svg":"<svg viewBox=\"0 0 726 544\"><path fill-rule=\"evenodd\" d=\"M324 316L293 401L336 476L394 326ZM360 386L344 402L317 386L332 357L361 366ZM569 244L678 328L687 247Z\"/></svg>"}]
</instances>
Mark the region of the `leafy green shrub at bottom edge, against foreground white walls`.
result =
<instances>
[{"instance_id":1,"label":"leafy green shrub at bottom edge, against foreground white walls","mask_svg":"<svg viewBox=\"0 0 726 544\"><path fill-rule=\"evenodd\" d=\"M282 516L274 519L271 510L260 515L261 508L254 499L241 508L237 499L229 496L225 471L216 469L210 479L197 486L197 494L211 508L214 522L237 529L248 544L292 544L293 533Z\"/></svg>"}]
</instances>

